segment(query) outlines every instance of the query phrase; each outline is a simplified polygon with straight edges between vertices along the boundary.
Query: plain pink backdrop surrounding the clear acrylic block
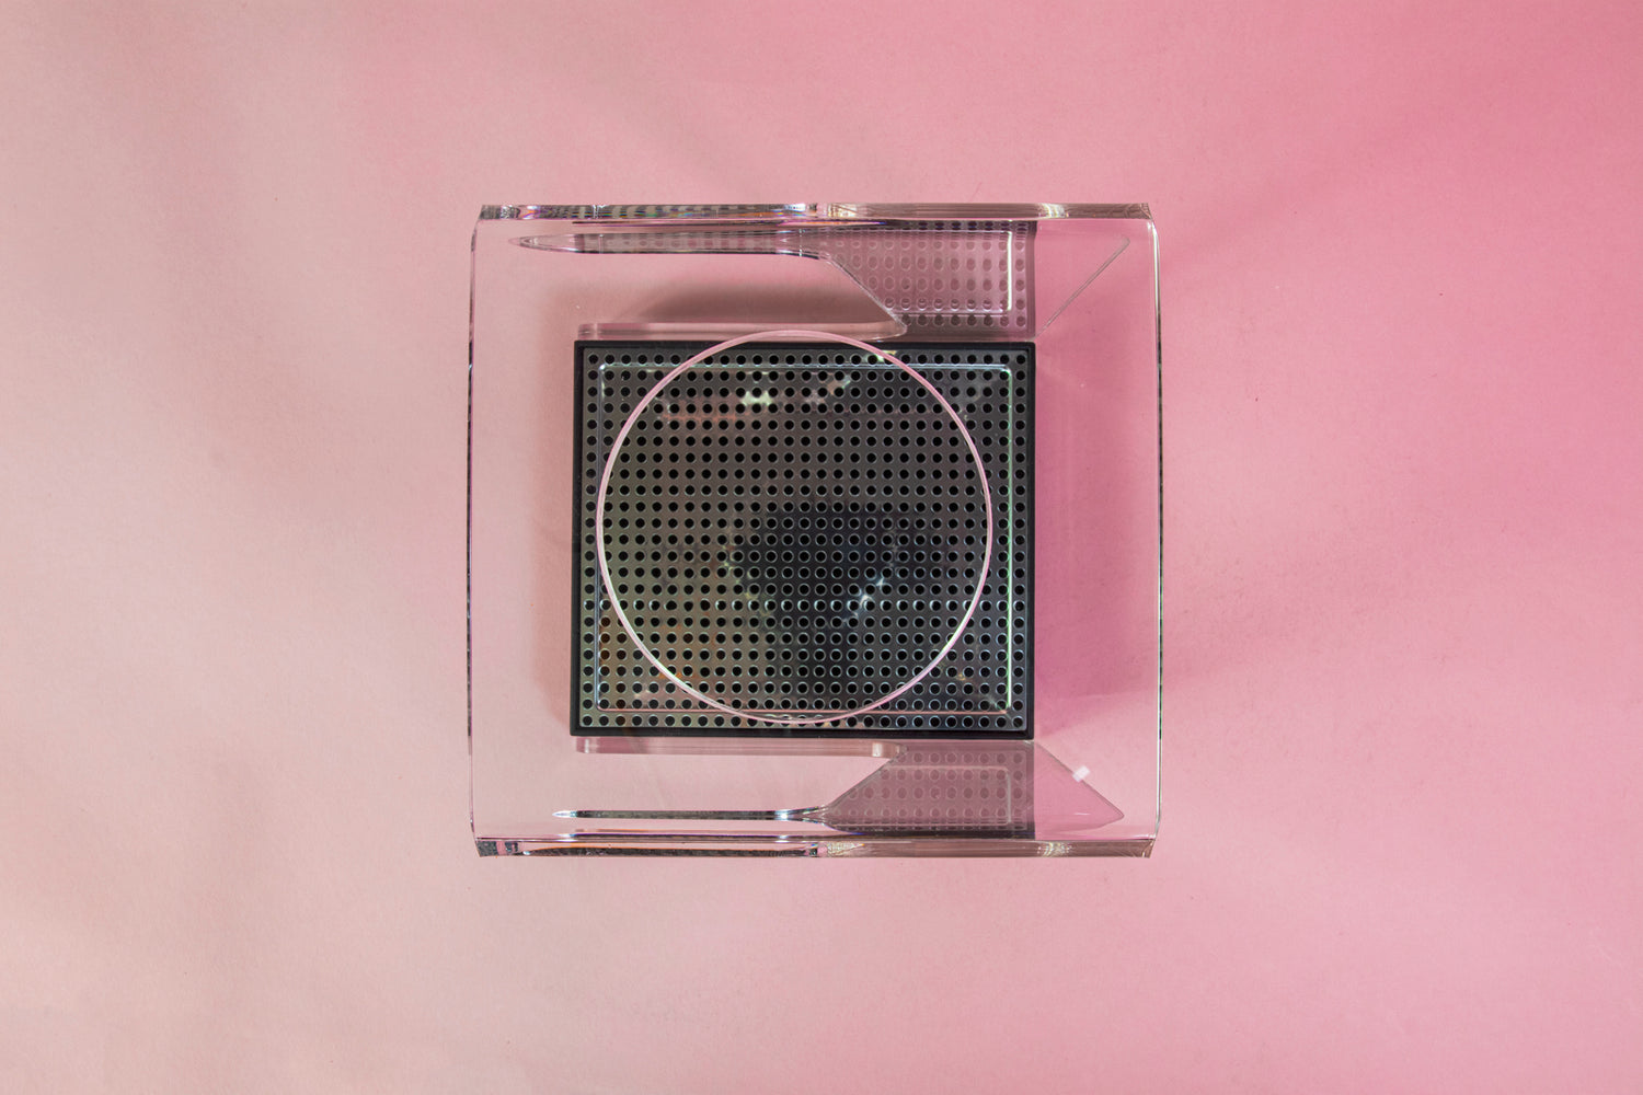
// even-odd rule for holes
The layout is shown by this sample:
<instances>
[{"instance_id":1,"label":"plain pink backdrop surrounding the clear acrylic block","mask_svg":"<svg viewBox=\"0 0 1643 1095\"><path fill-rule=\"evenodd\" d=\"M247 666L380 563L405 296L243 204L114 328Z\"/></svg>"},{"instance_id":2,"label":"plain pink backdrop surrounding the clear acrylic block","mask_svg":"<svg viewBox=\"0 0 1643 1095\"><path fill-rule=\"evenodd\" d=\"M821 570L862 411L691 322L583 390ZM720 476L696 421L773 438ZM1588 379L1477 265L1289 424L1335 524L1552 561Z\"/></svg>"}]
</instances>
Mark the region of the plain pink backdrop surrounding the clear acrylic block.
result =
<instances>
[{"instance_id":1,"label":"plain pink backdrop surrounding the clear acrylic block","mask_svg":"<svg viewBox=\"0 0 1643 1095\"><path fill-rule=\"evenodd\" d=\"M7 5L0 1088L1643 1088L1640 54L1628 3ZM478 207L918 199L1158 217L1155 859L478 859Z\"/></svg>"}]
</instances>

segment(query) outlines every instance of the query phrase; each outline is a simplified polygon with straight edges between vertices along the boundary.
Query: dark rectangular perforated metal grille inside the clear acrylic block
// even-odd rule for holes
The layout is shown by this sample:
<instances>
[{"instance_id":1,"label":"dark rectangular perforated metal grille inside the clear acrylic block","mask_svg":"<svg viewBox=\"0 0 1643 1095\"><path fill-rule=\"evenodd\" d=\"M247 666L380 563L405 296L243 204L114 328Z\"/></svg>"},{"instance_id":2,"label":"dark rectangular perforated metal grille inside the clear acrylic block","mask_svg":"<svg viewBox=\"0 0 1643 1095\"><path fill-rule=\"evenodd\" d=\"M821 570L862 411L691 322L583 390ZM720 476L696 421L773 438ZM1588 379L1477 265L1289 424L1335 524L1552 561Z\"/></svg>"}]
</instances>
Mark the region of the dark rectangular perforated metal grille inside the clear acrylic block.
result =
<instances>
[{"instance_id":1,"label":"dark rectangular perforated metal grille inside the clear acrylic block","mask_svg":"<svg viewBox=\"0 0 1643 1095\"><path fill-rule=\"evenodd\" d=\"M955 648L887 706L826 726L728 716L634 648L598 575L600 474L637 401L702 345L577 343L575 734L1030 737L1027 343L894 345L964 420L996 542ZM894 363L746 343L687 369L616 455L606 553L652 653L736 709L851 711L923 668L983 580L981 476L946 410Z\"/></svg>"}]
</instances>

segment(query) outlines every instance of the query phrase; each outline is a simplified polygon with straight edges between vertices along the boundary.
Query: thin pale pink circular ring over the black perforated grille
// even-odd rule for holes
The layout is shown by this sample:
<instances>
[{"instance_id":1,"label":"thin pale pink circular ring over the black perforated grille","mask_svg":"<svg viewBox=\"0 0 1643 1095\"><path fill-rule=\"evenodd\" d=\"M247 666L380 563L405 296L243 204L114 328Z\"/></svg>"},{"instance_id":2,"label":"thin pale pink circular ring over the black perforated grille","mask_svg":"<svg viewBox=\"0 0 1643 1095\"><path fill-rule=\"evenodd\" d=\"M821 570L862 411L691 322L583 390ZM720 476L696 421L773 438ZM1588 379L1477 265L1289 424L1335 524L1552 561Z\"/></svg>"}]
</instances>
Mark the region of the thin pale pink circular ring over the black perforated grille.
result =
<instances>
[{"instance_id":1,"label":"thin pale pink circular ring over the black perforated grille","mask_svg":"<svg viewBox=\"0 0 1643 1095\"><path fill-rule=\"evenodd\" d=\"M711 699L711 698L702 694L700 691L697 691L695 688L692 688L690 685L687 685L685 681L682 681L672 670L669 670L665 665L662 665L660 658L657 658L654 653L651 653L651 648L646 647L644 642L639 639L639 635L634 632L633 621L628 619L628 612L623 611L621 601L616 598L616 586L611 581L610 563L605 560L605 496L610 493L611 471L616 468L616 455L621 451L621 447L628 440L628 433L633 430L634 424L639 420L639 415L644 414L644 409L649 407L651 402L669 384L674 383L674 378L679 376L680 373L683 373L685 369L688 369L688 368L692 368L695 364L700 364L700 363L706 361L708 358L711 358L713 355L723 353L725 350L729 350L731 346L739 346L739 345L743 345L746 341L752 341L756 338L808 338L808 340L822 340L822 341L836 341L836 343L841 343L841 345L846 345L846 346L854 346L854 348L858 348L858 350L861 350L864 353L871 353L876 358L882 358L884 361L889 361L889 363L899 366L904 373L907 373L915 381L918 381L918 384L927 392L930 392L930 396L933 396L938 404L941 404L941 409L946 410L948 417L953 419L953 424L958 427L958 432L964 437L964 445L969 448L969 458L976 461L976 471L981 474L981 497L983 497L983 501L987 506L987 537L986 537L987 548L986 548L986 552L981 557L981 571L979 571L981 576L976 581L976 594L969 599L969 607L964 609L964 619L961 619L958 622L958 629L955 629L953 634L951 634L951 637L948 637L946 645L943 645L941 650L937 652L937 655L930 660L928 665L925 665L922 670L918 670L918 673L914 675L912 680L909 680L907 683L904 683L897 690L894 690L894 691L891 691L891 693L887 693L887 694L874 699L872 703L863 704L861 708L856 708L853 711L841 711L838 714L823 716L820 719L818 717L808 717L808 716L807 717L782 717L782 716L769 716L769 714L752 714L749 711L743 711L739 708L731 708L729 704L723 704L723 703L720 703L716 699ZM884 704L891 703L892 699L902 696L907 690L910 690L914 685L917 685L918 681L922 681L925 676L928 676L935 670L935 667L938 667L941 663L941 658L945 658L948 653L951 653L953 647L958 645L958 640L964 634L964 629L969 627L969 621L976 616L976 606L981 604L981 594L987 588L987 571L992 570L992 534L994 534L994 527L992 527L992 484L987 481L987 470L981 463L981 450L976 448L976 438L973 438L969 435L969 428L964 427L964 420L958 417L956 410L953 410L953 404L950 404L946 401L946 397L935 389L935 384L932 384L928 379L925 379L923 373L920 373L918 369L912 368L910 364L907 364L905 361L902 361L895 355L886 353L879 346L859 341L856 338L849 338L846 335L833 335L833 333L828 333L828 332L800 330L800 328L780 328L780 330L752 332L751 335L738 335L736 338L726 338L725 341L721 341L718 345L713 345L713 346L708 346L702 353L698 353L698 355L685 360L682 364L674 366L674 369L667 376L664 376L651 391L647 391L644 394L644 397L639 399L639 402L634 405L634 409L628 414L628 420L623 422L621 430L616 432L616 440L611 442L611 451L605 458L605 471L600 476L600 493L598 493L598 499L595 501L595 506L593 506L595 553L598 555L598 563L600 563L600 580L605 583L605 596L610 598L610 606L616 612L616 621L621 624L621 629L624 632L628 632L628 639L639 650L639 653L644 655L646 662L649 662L652 667L656 667L657 673L660 673L662 676L665 676L667 680L670 680L674 685L677 685L679 688L682 688L685 691L685 694L693 696L695 699L705 703L706 706L713 708L715 711L723 711L725 714L738 717L738 719L749 719L749 721L756 721L756 722L774 722L777 726L825 726L828 722L841 722L845 719L854 719L856 716L868 714L869 711L876 711L876 709L882 708Z\"/></svg>"}]
</instances>

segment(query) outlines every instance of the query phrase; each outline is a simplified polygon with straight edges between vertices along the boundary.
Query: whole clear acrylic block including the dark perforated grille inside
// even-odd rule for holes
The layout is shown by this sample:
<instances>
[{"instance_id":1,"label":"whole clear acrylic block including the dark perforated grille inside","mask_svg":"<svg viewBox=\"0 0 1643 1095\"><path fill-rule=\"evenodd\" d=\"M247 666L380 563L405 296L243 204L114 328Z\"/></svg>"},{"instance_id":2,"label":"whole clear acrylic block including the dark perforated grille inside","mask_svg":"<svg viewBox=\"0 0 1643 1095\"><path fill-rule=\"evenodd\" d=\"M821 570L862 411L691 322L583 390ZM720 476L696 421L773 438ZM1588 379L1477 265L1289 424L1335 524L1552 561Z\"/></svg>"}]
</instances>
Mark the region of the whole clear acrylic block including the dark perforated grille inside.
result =
<instances>
[{"instance_id":1,"label":"whole clear acrylic block including the dark perforated grille inside","mask_svg":"<svg viewBox=\"0 0 1643 1095\"><path fill-rule=\"evenodd\" d=\"M486 207L472 307L481 854L1150 852L1145 205Z\"/></svg>"}]
</instances>

